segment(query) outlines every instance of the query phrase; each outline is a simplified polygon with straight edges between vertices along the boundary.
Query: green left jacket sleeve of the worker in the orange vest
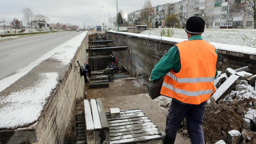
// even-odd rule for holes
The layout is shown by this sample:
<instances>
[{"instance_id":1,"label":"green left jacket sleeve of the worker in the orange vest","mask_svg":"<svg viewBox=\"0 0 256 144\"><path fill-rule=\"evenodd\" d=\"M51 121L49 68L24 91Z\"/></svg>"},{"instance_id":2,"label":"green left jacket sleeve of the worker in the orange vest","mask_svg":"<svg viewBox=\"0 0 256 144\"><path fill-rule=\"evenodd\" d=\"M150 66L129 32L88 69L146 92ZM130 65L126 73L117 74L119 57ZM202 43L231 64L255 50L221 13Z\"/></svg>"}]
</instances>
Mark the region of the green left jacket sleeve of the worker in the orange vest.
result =
<instances>
[{"instance_id":1,"label":"green left jacket sleeve of the worker in the orange vest","mask_svg":"<svg viewBox=\"0 0 256 144\"><path fill-rule=\"evenodd\" d=\"M155 81L162 78L171 68L173 68L174 72L178 72L180 67L180 54L178 48L173 46L154 66L149 81Z\"/></svg>"}]
</instances>

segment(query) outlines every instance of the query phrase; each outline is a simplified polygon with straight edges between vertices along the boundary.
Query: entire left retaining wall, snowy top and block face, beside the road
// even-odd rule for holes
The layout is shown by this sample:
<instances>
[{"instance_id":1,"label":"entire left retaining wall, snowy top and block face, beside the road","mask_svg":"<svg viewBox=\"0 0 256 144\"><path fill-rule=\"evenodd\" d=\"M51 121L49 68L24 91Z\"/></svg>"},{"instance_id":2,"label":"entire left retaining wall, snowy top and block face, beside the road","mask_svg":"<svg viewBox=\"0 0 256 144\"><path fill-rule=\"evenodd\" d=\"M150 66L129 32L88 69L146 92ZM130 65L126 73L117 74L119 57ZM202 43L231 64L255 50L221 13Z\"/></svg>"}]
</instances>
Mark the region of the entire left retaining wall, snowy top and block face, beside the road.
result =
<instances>
[{"instance_id":1,"label":"entire left retaining wall, snowy top and block face, beside the road","mask_svg":"<svg viewBox=\"0 0 256 144\"><path fill-rule=\"evenodd\" d=\"M84 78L75 66L86 62L86 49L87 31L0 92L0 143L64 143L75 101L83 97Z\"/></svg>"}]
</instances>

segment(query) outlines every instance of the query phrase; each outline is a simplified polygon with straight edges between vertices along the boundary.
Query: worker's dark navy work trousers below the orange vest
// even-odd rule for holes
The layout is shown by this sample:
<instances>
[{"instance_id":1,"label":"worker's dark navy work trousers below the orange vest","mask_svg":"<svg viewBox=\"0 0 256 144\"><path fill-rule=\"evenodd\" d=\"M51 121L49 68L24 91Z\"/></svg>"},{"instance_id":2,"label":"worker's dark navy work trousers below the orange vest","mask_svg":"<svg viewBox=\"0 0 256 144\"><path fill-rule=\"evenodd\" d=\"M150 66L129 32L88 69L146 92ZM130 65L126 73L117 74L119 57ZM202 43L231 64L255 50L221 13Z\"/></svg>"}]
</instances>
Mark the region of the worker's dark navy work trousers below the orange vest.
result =
<instances>
[{"instance_id":1,"label":"worker's dark navy work trousers below the orange vest","mask_svg":"<svg viewBox=\"0 0 256 144\"><path fill-rule=\"evenodd\" d=\"M206 102L199 105L186 105L172 100L169 114L166 118L165 144L174 143L177 130L182 120L187 118L187 130L191 144L204 144L202 123ZM173 141L173 142L172 142Z\"/></svg>"}]
</instances>

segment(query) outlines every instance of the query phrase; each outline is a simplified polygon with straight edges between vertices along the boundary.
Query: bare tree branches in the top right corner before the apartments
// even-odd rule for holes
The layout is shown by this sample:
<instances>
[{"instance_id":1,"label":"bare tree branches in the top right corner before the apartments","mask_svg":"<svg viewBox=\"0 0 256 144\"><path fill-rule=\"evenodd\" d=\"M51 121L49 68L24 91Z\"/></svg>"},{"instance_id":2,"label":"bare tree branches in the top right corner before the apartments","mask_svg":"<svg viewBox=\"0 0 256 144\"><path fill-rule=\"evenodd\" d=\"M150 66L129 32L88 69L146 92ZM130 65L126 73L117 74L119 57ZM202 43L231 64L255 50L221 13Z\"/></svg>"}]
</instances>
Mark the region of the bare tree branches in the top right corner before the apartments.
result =
<instances>
[{"instance_id":1,"label":"bare tree branches in the top right corner before the apartments","mask_svg":"<svg viewBox=\"0 0 256 144\"><path fill-rule=\"evenodd\" d=\"M238 5L241 10L253 16L254 29L256 29L256 0L242 0Z\"/></svg>"}]
</instances>

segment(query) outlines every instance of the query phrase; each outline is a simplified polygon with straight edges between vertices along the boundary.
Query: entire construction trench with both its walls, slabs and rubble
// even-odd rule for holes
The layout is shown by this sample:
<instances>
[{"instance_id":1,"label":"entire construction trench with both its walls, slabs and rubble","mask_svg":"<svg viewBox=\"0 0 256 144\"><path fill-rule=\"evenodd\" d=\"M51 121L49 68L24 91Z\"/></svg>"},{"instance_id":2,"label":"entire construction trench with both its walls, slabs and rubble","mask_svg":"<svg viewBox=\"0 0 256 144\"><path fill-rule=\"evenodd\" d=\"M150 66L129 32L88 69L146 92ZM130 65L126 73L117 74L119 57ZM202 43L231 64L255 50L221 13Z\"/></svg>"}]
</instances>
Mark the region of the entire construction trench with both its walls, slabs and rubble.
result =
<instances>
[{"instance_id":1,"label":"entire construction trench with both its walls, slabs and rubble","mask_svg":"<svg viewBox=\"0 0 256 144\"><path fill-rule=\"evenodd\" d=\"M59 47L65 49L41 58L42 62L14 83L8 85L8 77L4 85L0 81L4 87L0 87L0 115L8 115L0 118L0 142L162 143L171 98L159 96L152 100L146 84L154 64L181 41L184 39L123 31L85 31ZM71 47L74 43L79 44ZM205 143L256 143L256 50L212 44L218 50L219 75L214 80L216 92L206 104L202 125ZM74 50L68 51L71 48ZM90 74L82 72L84 62L89 64ZM53 64L58 69L51 68ZM111 71L106 71L107 66ZM40 79L31 79L30 75ZM32 101L42 93L46 78L46 82L54 81L56 85L47 85L45 99ZM30 89L35 91L31 93ZM22 103L13 101L21 95L27 96ZM40 103L33 109L38 112L36 116L26 105L31 101ZM118 108L120 116L111 118L112 108ZM175 143L190 143L186 118Z\"/></svg>"}]
</instances>

